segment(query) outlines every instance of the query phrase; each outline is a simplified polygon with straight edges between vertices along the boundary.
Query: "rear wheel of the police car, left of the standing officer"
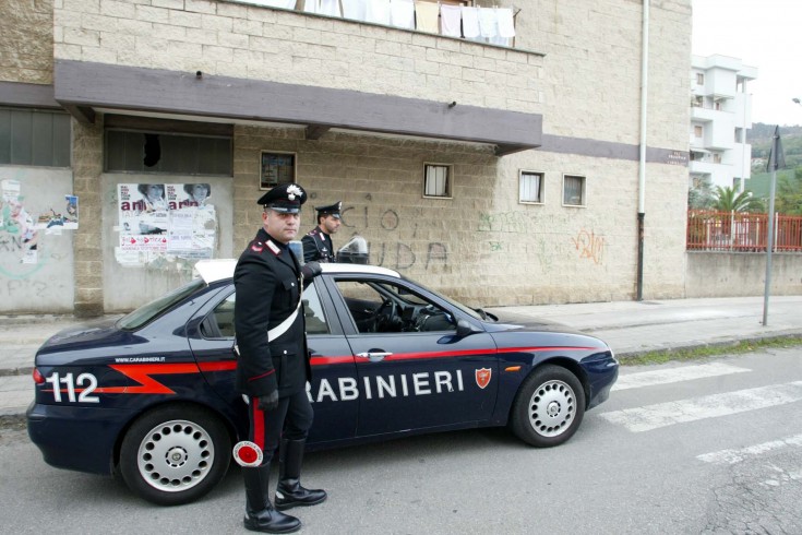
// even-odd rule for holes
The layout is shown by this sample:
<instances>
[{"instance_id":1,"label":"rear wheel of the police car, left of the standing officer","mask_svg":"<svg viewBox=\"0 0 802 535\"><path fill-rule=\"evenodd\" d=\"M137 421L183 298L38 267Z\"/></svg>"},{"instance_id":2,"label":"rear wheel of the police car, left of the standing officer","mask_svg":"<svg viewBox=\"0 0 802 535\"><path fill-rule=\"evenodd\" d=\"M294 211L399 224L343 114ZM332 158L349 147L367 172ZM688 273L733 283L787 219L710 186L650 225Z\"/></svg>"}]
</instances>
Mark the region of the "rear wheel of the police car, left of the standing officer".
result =
<instances>
[{"instance_id":1,"label":"rear wheel of the police car, left of the standing officer","mask_svg":"<svg viewBox=\"0 0 802 535\"><path fill-rule=\"evenodd\" d=\"M231 440L220 420L193 405L170 405L141 416L120 449L129 488L158 506L204 496L228 468Z\"/></svg>"}]
</instances>

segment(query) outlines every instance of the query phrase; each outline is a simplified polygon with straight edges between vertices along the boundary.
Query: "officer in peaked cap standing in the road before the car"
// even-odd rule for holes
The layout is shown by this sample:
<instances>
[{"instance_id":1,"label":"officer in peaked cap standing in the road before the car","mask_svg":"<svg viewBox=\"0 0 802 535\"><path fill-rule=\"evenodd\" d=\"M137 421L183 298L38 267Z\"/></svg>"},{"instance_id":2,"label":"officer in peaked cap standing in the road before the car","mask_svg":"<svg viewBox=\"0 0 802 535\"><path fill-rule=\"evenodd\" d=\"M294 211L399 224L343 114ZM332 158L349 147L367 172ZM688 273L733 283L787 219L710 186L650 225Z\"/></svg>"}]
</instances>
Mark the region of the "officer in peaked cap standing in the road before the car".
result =
<instances>
[{"instance_id":1,"label":"officer in peaked cap standing in the road before the car","mask_svg":"<svg viewBox=\"0 0 802 535\"><path fill-rule=\"evenodd\" d=\"M277 186L262 195L262 228L240 255L234 273L237 389L248 401L249 439L263 455L261 464L242 468L244 526L256 532L295 532L301 522L280 511L326 499L324 490L306 489L300 484L303 448L313 417L306 390L311 367L301 293L303 280L321 270L316 262L301 268L287 243L298 234L306 201L307 193L297 183ZM274 508L268 475L276 448L279 482Z\"/></svg>"}]
</instances>

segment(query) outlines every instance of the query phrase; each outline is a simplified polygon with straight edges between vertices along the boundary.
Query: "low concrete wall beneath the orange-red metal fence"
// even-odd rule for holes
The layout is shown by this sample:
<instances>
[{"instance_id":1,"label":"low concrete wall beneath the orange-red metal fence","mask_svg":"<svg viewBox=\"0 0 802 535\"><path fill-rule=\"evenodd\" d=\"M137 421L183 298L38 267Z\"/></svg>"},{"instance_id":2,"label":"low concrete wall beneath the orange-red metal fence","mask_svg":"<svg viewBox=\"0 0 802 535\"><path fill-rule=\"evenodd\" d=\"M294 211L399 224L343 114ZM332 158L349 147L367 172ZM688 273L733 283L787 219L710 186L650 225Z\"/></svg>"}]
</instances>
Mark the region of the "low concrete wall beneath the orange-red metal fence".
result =
<instances>
[{"instance_id":1,"label":"low concrete wall beneath the orange-red metal fence","mask_svg":"<svg viewBox=\"0 0 802 535\"><path fill-rule=\"evenodd\" d=\"M758 296L766 290L766 253L689 252L685 297ZM771 295L802 295L802 255L771 254Z\"/></svg>"}]
</instances>

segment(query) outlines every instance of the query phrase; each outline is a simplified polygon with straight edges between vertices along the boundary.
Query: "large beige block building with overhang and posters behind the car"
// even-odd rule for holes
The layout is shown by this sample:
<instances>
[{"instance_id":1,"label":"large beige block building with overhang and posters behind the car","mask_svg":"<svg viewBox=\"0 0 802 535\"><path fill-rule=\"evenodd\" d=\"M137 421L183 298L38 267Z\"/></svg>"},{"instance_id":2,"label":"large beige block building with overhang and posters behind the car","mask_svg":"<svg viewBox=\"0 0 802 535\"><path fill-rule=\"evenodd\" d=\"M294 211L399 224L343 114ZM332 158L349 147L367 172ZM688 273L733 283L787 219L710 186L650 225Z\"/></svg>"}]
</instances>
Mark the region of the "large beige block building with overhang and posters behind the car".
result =
<instances>
[{"instance_id":1,"label":"large beige block building with overhang and posters behind the car","mask_svg":"<svg viewBox=\"0 0 802 535\"><path fill-rule=\"evenodd\" d=\"M290 180L471 306L682 297L690 34L691 0L4 1L0 312L130 310Z\"/></svg>"}]
</instances>

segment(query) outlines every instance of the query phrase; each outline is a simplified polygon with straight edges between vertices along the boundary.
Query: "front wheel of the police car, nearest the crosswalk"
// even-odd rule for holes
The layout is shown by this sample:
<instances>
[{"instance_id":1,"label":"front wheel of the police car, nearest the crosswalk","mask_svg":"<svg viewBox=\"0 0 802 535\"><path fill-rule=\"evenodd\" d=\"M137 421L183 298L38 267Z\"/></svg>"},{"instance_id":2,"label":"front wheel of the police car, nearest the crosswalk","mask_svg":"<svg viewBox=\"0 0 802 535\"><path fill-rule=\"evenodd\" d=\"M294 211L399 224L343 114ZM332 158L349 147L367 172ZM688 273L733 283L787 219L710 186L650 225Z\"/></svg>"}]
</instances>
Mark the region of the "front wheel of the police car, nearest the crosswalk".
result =
<instances>
[{"instance_id":1,"label":"front wheel of the police car, nearest the crosswalk","mask_svg":"<svg viewBox=\"0 0 802 535\"><path fill-rule=\"evenodd\" d=\"M538 448L560 445L579 428L585 391L571 371L544 365L524 380L511 418L515 436Z\"/></svg>"}]
</instances>

